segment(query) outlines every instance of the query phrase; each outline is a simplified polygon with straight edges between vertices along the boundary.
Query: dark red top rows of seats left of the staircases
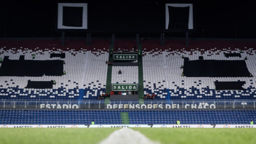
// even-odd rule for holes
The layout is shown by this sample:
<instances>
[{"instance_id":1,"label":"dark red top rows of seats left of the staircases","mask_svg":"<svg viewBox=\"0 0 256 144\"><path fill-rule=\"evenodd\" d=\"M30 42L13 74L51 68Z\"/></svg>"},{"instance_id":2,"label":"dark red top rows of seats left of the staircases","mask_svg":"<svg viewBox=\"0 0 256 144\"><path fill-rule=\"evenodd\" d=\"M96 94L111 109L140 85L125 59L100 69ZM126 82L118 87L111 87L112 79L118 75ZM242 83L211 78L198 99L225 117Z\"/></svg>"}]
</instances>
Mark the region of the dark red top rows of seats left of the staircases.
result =
<instances>
[{"instance_id":1,"label":"dark red top rows of seats left of the staircases","mask_svg":"<svg viewBox=\"0 0 256 144\"><path fill-rule=\"evenodd\" d=\"M62 46L61 40L1 40L1 53L9 52L13 54L37 52L43 54L44 51L63 52L68 51L71 55L75 55L86 51L104 51L109 49L109 40L107 39L92 39L91 45L86 45L84 39L65 40L65 46Z\"/></svg>"}]
</instances>

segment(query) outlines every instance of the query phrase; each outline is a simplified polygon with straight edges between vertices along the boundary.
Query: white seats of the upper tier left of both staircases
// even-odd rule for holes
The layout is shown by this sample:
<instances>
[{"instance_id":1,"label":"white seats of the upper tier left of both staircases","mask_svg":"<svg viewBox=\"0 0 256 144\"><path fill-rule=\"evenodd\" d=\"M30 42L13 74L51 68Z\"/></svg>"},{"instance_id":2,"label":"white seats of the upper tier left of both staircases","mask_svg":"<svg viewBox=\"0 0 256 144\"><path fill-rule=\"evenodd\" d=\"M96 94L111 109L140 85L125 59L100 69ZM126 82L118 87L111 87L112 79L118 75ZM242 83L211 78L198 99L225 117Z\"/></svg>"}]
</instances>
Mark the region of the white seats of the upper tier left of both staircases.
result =
<instances>
[{"instance_id":1,"label":"white seats of the upper tier left of both staircases","mask_svg":"<svg viewBox=\"0 0 256 144\"><path fill-rule=\"evenodd\" d=\"M51 81L55 80L56 85L53 85L53 89L58 89L63 87L65 91L68 92L59 92L59 96L69 96L72 94L71 89L77 88L75 94L73 92L73 97L79 97L79 90L84 89L89 86L89 83L94 82L93 85L90 85L91 88L93 87L106 87L106 74L107 74L107 65L105 64L106 60L108 59L108 53L103 51L91 52L91 51L84 51L81 49L80 51L74 51L73 49L68 49L69 51L62 51L61 49L53 50L37 50L35 48L35 52L32 52L31 49L22 48L15 50L16 48L12 48L9 50L4 50L3 48L0 49L0 57L4 59L4 56L9 56L11 60L18 60L21 55L25 56L25 60L32 60L32 53L37 53L35 55L35 60L63 60L65 61L65 65L63 65L63 70L66 71L66 75L62 76L42 76L42 77L1 77L0 85L2 85L2 89L7 89L9 87L17 87L25 88L27 85L27 81ZM55 49L55 48L53 48ZM16 54L14 54L16 52ZM32 53L31 53L32 52ZM41 54L40 54L40 53ZM53 57L50 58L50 53L65 53L66 58L62 59L60 57ZM72 54L75 53L75 56ZM1 65L1 64L0 64ZM99 85L100 84L100 85ZM85 85L85 86L84 86ZM49 89L50 94L55 94L52 92L53 89ZM99 88L100 89L100 88ZM30 95L30 93L35 91L36 93L40 93L40 91L44 91L46 89L26 89L26 93ZM28 93L29 92L29 93ZM32 92L32 93L33 93ZM47 90L48 92L48 90ZM44 95L47 94L45 92ZM0 93L1 95L8 95L9 92ZM22 93L22 92L21 92ZM23 93L24 96L26 93ZM86 93L86 92L85 92ZM18 92L17 92L18 94ZM53 96L50 96L50 98ZM35 97L31 95L32 97ZM10 95L10 97L15 97L14 95ZM72 96L71 96L72 97ZM36 99L36 97L35 97Z\"/></svg>"}]
</instances>

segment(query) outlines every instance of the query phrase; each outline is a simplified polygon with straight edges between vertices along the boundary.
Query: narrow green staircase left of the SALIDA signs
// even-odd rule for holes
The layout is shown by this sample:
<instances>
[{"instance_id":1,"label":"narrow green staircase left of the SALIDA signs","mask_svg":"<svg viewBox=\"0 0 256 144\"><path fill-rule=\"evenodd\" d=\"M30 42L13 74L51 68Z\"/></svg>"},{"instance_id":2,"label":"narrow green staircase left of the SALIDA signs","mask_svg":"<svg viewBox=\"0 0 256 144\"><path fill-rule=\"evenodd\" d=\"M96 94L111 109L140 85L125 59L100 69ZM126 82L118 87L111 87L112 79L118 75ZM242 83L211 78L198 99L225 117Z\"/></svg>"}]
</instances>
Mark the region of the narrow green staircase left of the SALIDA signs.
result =
<instances>
[{"instance_id":1,"label":"narrow green staircase left of the SALIDA signs","mask_svg":"<svg viewBox=\"0 0 256 144\"><path fill-rule=\"evenodd\" d=\"M112 49L114 48L114 45L110 42L110 50L109 50L109 57L108 62L113 62L112 58ZM112 77L112 65L107 66L107 79L106 79L106 92L110 95L111 90L111 77ZM105 98L104 100L105 105L110 104L110 98Z\"/></svg>"}]
</instances>

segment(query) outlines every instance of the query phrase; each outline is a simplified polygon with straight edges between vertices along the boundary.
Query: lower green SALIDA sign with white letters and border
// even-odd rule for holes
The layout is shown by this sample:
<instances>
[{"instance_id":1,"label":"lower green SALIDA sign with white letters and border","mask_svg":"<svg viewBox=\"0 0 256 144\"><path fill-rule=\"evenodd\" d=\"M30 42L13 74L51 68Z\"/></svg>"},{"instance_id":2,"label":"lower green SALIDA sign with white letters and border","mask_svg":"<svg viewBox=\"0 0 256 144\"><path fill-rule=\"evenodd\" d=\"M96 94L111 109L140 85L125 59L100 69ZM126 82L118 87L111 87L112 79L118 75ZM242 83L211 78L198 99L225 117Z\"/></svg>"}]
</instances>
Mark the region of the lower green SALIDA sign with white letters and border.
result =
<instances>
[{"instance_id":1,"label":"lower green SALIDA sign with white letters and border","mask_svg":"<svg viewBox=\"0 0 256 144\"><path fill-rule=\"evenodd\" d=\"M124 84L124 83L112 83L111 84L112 91L138 91L138 84L131 83L131 84Z\"/></svg>"}]
</instances>

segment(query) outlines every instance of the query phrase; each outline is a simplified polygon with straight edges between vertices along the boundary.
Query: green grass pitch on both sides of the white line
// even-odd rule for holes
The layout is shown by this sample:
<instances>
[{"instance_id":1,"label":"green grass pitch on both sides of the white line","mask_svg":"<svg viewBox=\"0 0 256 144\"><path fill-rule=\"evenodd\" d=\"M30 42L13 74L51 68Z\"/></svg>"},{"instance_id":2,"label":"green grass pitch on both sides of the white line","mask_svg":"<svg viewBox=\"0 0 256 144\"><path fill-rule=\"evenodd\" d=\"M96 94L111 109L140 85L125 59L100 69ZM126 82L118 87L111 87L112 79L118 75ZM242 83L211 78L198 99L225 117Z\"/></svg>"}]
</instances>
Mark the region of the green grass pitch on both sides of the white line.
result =
<instances>
[{"instance_id":1,"label":"green grass pitch on both sides of the white line","mask_svg":"<svg viewBox=\"0 0 256 144\"><path fill-rule=\"evenodd\" d=\"M0 128L0 144L97 144L120 128ZM132 128L161 144L255 144L254 128Z\"/></svg>"}]
</instances>

